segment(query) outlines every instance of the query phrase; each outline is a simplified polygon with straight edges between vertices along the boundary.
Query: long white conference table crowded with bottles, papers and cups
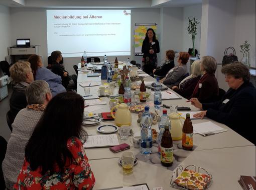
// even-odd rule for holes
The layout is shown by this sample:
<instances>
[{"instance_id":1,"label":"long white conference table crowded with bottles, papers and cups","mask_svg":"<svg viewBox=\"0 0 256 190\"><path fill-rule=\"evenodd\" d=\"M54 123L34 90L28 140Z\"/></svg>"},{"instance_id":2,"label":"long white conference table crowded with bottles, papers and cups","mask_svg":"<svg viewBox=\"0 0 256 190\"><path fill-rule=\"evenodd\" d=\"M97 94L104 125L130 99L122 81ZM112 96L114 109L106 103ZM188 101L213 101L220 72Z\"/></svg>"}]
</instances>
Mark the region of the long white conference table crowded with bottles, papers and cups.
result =
<instances>
[{"instance_id":1,"label":"long white conference table crowded with bottles, papers and cups","mask_svg":"<svg viewBox=\"0 0 256 190\"><path fill-rule=\"evenodd\" d=\"M78 65L80 66L80 65ZM98 65L99 66L99 65ZM144 72L140 72L145 75ZM106 85L106 80L101 80L100 76L87 77L87 74L83 70L78 71L77 93L84 95L83 87L79 84L84 81L99 81L102 85ZM145 81L155 81L155 79L149 75L144 77ZM90 93L98 94L99 86L90 87ZM168 89L171 93L175 93L173 90ZM114 93L118 92L118 87L114 89ZM133 91L132 91L133 92ZM154 91L152 91L154 92ZM180 96L179 94L177 94ZM101 97L100 100L106 101L106 104L93 105L98 106L98 109L93 111L108 112L109 98ZM133 99L138 100L138 99ZM181 97L180 99L162 100L162 104L189 106L191 111L198 111L199 109L192 106L190 102L186 102L187 99ZM152 105L153 93L145 104ZM154 106L150 107L150 111L154 111ZM170 112L170 109L168 109ZM132 114L132 129L134 134L139 134L141 127L137 122L138 113ZM204 119L192 119L192 123L202 123L211 121L218 126L227 129L225 132L202 136L200 134L194 134L195 149L181 162L180 165L186 167L187 165L201 166L210 172L213 176L213 182L209 189L241 189L241 186L237 182L240 175L255 176L255 146L253 143L233 131L225 124L216 122L212 119L205 117ZM184 120L182 119L182 122ZM101 121L100 124L114 124L114 121ZM96 126L83 126L88 135L101 134ZM153 124L152 128L157 131L158 123ZM135 148L130 142L130 138L127 140L121 140L118 132L119 143L127 143L131 145L129 151L133 151L134 154L140 152L140 148ZM174 143L176 143L174 141ZM154 165L148 162L139 161L134 167L134 171L130 175L124 175L122 173L122 167L117 163L118 158L123 151L113 153L109 150L109 147L95 147L85 148L86 155L89 159L91 169L95 175L96 183L93 189L114 188L121 186L129 186L133 184L147 183L150 189L153 187L162 186L163 189L174 189L170 186L170 180L173 171L163 167L162 165Z\"/></svg>"}]
</instances>

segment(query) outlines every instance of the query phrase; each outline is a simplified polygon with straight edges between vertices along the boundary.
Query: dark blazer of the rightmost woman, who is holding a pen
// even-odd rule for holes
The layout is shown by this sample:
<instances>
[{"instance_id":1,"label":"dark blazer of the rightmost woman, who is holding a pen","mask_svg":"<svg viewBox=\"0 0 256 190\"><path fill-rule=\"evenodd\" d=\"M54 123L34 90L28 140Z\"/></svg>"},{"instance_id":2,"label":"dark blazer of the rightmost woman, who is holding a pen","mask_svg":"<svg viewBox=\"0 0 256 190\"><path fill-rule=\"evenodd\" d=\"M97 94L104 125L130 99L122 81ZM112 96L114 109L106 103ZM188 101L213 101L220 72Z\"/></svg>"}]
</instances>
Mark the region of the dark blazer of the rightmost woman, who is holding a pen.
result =
<instances>
[{"instance_id":1,"label":"dark blazer of the rightmost woman, who is holding a pen","mask_svg":"<svg viewBox=\"0 0 256 190\"><path fill-rule=\"evenodd\" d=\"M223 103L223 100L229 99ZM238 89L229 88L221 100L203 103L206 116L224 123L255 144L256 89L251 82Z\"/></svg>"}]
</instances>

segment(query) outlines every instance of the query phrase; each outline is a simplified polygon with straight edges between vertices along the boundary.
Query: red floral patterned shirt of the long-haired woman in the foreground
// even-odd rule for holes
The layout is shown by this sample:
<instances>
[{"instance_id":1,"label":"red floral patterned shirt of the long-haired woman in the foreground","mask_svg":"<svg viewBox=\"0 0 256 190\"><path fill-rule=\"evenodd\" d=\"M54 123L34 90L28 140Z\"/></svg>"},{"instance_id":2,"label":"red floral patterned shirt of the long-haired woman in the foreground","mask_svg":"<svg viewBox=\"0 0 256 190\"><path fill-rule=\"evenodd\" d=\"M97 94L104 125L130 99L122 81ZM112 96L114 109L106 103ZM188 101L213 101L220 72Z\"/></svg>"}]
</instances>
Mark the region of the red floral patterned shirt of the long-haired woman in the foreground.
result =
<instances>
[{"instance_id":1,"label":"red floral patterned shirt of the long-haired woman in the foreground","mask_svg":"<svg viewBox=\"0 0 256 190\"><path fill-rule=\"evenodd\" d=\"M55 172L44 175L40 172L40 167L32 171L30 163L25 159L15 189L92 189L95 178L85 155L83 144L77 137L70 137L67 147L73 155L71 164L64 168L62 173L59 167L55 166Z\"/></svg>"}]
</instances>

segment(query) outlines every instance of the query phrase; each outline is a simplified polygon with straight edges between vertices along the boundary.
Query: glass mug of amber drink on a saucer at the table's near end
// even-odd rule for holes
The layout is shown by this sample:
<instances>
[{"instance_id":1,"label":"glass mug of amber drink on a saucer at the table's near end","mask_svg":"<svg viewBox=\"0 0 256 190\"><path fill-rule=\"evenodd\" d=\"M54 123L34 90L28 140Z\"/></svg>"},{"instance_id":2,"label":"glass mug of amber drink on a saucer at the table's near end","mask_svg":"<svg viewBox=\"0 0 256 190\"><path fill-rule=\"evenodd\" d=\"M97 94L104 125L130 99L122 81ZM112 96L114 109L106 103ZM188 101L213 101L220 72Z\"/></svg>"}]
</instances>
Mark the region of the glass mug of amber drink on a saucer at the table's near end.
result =
<instances>
[{"instance_id":1,"label":"glass mug of amber drink on a saucer at the table's near end","mask_svg":"<svg viewBox=\"0 0 256 190\"><path fill-rule=\"evenodd\" d=\"M125 175L129 175L134 170L134 152L132 151L125 151L122 153L121 156L121 163L122 163L122 172Z\"/></svg>"}]
</instances>

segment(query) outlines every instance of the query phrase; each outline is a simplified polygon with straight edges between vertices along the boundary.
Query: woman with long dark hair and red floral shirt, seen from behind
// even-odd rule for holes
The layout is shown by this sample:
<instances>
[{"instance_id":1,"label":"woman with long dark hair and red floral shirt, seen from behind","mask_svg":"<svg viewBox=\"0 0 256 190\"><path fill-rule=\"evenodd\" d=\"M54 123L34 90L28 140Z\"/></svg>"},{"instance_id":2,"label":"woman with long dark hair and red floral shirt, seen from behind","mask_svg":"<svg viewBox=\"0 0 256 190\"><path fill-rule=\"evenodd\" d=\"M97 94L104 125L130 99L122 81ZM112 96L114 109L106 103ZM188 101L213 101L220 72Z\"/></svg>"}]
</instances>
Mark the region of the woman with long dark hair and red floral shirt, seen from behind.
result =
<instances>
[{"instance_id":1,"label":"woman with long dark hair and red floral shirt, seen from behind","mask_svg":"<svg viewBox=\"0 0 256 190\"><path fill-rule=\"evenodd\" d=\"M75 92L52 98L25 147L15 189L92 189L95 178L80 140L86 138L83 109Z\"/></svg>"}]
</instances>

